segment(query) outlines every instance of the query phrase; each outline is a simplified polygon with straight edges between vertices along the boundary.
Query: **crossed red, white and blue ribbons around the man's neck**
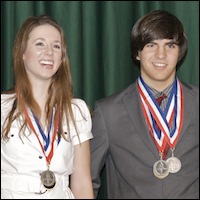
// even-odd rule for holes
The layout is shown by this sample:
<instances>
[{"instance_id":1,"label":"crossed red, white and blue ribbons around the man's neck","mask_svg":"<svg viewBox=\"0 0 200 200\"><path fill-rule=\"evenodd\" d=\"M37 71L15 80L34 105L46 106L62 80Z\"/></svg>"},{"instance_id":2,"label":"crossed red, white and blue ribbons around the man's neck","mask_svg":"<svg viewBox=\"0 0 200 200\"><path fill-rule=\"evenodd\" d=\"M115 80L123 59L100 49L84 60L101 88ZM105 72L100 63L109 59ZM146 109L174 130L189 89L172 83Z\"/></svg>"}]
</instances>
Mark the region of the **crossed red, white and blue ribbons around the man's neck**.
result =
<instances>
[{"instance_id":1,"label":"crossed red, white and blue ribbons around the man's neck","mask_svg":"<svg viewBox=\"0 0 200 200\"><path fill-rule=\"evenodd\" d=\"M164 112L160 109L141 76L138 78L138 90L145 119L159 152L164 151L166 143L174 148L181 132L184 113L184 99L180 81L175 78ZM161 131L156 128L156 124Z\"/></svg>"}]
</instances>

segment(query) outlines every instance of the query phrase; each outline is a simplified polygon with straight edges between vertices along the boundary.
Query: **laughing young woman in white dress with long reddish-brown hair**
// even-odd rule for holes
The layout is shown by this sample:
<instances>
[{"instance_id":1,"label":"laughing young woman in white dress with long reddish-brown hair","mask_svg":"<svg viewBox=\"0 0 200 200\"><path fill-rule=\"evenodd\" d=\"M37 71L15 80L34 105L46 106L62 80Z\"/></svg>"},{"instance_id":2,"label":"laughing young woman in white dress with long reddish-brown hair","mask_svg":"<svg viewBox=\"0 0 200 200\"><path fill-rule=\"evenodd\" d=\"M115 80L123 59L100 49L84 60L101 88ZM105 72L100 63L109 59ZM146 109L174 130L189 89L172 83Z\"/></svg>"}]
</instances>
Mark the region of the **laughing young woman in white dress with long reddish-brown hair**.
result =
<instances>
[{"instance_id":1,"label":"laughing young woman in white dress with long reddish-brown hair","mask_svg":"<svg viewBox=\"0 0 200 200\"><path fill-rule=\"evenodd\" d=\"M1 94L1 198L93 198L91 116L73 97L60 25L28 18L13 65L15 87Z\"/></svg>"}]
</instances>

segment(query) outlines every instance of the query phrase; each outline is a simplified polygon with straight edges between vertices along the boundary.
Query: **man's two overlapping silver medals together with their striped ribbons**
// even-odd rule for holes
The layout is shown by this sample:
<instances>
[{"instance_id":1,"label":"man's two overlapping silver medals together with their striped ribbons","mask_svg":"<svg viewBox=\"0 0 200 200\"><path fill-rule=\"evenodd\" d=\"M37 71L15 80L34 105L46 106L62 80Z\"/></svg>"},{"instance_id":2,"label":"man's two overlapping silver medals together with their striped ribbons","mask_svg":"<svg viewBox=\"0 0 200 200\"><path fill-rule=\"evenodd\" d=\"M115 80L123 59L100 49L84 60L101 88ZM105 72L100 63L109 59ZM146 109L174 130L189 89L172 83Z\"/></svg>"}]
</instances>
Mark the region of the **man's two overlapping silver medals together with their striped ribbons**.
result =
<instances>
[{"instance_id":1,"label":"man's two overlapping silver medals together with their striped ribbons","mask_svg":"<svg viewBox=\"0 0 200 200\"><path fill-rule=\"evenodd\" d=\"M178 158L172 156L167 161L163 160L162 154L166 144L174 149L181 133L184 114L184 96L180 81L175 78L167 104L162 111L148 86L140 76L138 78L138 91L142 101L142 109L161 159L154 163L153 173L157 178L165 178L169 173L176 173L181 168ZM159 131L157 126L159 127Z\"/></svg>"}]
</instances>

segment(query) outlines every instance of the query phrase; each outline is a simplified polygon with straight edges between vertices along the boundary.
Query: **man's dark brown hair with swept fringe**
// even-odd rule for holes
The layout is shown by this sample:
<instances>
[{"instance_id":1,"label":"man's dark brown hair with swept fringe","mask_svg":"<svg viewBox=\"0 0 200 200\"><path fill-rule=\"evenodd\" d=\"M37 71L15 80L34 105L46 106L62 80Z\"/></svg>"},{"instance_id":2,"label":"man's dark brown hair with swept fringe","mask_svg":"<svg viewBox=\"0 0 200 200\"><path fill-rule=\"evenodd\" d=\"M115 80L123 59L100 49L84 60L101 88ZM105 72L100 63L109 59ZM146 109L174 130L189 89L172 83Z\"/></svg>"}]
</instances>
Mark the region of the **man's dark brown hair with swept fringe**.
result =
<instances>
[{"instance_id":1,"label":"man's dark brown hair with swept fringe","mask_svg":"<svg viewBox=\"0 0 200 200\"><path fill-rule=\"evenodd\" d=\"M131 31L131 56L136 64L138 52L146 44L157 39L172 39L179 46L178 64L187 51L187 38L183 25L177 17L167 11L155 10L140 18Z\"/></svg>"}]
</instances>

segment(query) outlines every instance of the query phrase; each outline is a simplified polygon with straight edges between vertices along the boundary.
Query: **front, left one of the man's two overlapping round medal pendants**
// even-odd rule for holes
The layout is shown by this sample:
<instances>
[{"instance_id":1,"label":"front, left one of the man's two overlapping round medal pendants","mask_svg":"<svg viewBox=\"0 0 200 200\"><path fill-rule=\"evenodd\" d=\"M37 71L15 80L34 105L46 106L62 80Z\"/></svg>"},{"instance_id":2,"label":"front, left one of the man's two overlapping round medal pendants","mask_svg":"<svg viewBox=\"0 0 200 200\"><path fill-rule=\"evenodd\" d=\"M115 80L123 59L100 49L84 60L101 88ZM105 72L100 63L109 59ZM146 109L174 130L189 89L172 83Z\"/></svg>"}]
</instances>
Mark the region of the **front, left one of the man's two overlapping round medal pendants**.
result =
<instances>
[{"instance_id":1,"label":"front, left one of the man's two overlapping round medal pendants","mask_svg":"<svg viewBox=\"0 0 200 200\"><path fill-rule=\"evenodd\" d=\"M169 174L169 166L166 161L159 160L153 165L153 173L157 178L163 179Z\"/></svg>"}]
</instances>

